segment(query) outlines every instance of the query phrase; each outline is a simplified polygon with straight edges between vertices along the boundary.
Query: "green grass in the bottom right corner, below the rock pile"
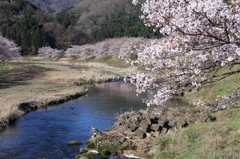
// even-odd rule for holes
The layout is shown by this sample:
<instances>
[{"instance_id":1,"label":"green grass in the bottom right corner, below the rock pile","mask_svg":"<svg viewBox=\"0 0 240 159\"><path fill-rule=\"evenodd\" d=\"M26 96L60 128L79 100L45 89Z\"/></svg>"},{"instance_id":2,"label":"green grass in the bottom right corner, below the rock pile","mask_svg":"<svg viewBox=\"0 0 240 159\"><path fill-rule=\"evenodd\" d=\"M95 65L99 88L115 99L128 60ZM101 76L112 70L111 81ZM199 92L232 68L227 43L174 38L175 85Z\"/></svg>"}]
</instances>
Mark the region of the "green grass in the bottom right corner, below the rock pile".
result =
<instances>
[{"instance_id":1,"label":"green grass in the bottom right corner, below the rock pile","mask_svg":"<svg viewBox=\"0 0 240 159\"><path fill-rule=\"evenodd\" d=\"M239 158L240 111L226 110L215 116L217 122L194 124L160 139L162 150L154 158Z\"/></svg>"}]
</instances>

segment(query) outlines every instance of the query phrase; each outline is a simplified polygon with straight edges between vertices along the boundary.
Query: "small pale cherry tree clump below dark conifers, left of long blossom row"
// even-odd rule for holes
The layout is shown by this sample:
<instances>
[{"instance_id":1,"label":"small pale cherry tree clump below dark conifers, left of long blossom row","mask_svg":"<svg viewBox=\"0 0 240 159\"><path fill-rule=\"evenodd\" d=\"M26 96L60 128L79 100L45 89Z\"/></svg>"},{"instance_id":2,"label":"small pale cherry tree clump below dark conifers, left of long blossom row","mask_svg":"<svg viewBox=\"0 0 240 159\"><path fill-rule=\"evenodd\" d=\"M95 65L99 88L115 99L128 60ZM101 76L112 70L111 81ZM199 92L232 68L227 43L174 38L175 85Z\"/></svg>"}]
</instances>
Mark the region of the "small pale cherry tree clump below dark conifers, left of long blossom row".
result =
<instances>
[{"instance_id":1,"label":"small pale cherry tree clump below dark conifers, left of long blossom row","mask_svg":"<svg viewBox=\"0 0 240 159\"><path fill-rule=\"evenodd\" d=\"M45 58L61 58L64 50L53 49L51 47L42 47L38 50L39 57Z\"/></svg>"}]
</instances>

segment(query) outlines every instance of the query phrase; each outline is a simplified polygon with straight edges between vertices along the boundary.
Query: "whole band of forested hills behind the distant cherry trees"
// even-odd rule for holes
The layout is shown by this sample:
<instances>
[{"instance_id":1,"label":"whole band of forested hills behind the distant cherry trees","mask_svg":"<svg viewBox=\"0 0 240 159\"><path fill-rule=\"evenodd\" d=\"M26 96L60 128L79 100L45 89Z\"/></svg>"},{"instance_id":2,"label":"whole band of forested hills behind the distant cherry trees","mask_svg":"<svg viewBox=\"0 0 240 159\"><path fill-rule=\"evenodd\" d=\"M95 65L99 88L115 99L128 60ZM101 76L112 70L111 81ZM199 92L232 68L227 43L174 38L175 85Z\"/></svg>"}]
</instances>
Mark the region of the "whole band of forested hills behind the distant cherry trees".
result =
<instances>
[{"instance_id":1,"label":"whole band of forested hills behind the distant cherry trees","mask_svg":"<svg viewBox=\"0 0 240 159\"><path fill-rule=\"evenodd\" d=\"M27 0L1 0L0 32L21 46L23 55L35 55L43 46L66 50L106 38L160 37L140 14L132 0L83 0L54 14Z\"/></svg>"}]
</instances>

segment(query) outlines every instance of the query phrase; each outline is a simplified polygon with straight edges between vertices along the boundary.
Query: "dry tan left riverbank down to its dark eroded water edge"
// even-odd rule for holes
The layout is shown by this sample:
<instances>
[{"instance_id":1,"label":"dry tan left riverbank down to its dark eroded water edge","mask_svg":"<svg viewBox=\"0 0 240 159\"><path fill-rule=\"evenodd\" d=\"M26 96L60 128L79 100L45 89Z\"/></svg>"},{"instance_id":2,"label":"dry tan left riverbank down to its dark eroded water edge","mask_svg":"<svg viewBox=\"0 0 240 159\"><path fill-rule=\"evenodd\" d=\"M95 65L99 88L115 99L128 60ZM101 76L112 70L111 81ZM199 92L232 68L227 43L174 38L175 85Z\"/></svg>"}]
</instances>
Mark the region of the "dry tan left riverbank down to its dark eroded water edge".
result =
<instances>
[{"instance_id":1,"label":"dry tan left riverbank down to its dark eroded water edge","mask_svg":"<svg viewBox=\"0 0 240 159\"><path fill-rule=\"evenodd\" d=\"M11 62L0 71L0 129L37 107L86 94L88 84L116 78L101 68L71 69L41 61Z\"/></svg>"}]
</instances>

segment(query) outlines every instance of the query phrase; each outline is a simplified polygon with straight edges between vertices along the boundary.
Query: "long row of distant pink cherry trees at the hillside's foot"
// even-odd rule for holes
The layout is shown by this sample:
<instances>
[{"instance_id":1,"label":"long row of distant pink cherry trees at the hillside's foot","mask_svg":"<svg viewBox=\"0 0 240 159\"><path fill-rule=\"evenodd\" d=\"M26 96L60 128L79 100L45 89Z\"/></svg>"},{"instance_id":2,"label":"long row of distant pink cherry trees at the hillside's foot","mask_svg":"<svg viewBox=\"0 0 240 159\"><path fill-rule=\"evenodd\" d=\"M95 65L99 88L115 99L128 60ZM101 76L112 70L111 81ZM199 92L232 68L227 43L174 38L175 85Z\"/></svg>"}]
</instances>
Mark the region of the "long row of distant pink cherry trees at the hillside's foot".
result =
<instances>
[{"instance_id":1,"label":"long row of distant pink cherry trees at the hillside's foot","mask_svg":"<svg viewBox=\"0 0 240 159\"><path fill-rule=\"evenodd\" d=\"M141 43L150 44L150 41L144 38L127 37L106 39L96 44L72 45L65 51L64 56L81 59L103 58L106 56L129 58L137 55Z\"/></svg>"}]
</instances>

